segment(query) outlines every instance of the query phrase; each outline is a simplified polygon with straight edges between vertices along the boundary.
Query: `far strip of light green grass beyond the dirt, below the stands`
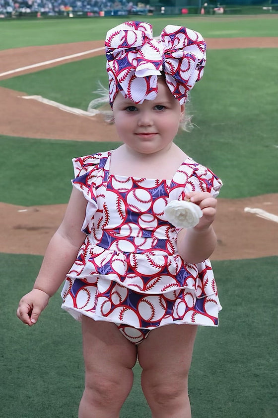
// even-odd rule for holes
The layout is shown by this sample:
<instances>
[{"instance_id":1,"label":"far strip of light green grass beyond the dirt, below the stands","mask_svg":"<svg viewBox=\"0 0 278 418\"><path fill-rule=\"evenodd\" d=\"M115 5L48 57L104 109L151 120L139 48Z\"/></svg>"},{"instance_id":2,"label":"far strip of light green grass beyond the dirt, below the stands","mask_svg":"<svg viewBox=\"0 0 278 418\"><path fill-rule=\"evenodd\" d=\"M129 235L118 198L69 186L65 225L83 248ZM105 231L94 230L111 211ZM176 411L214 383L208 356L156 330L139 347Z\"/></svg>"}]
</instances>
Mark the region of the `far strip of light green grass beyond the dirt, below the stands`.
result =
<instances>
[{"instance_id":1,"label":"far strip of light green grass beyond the dirt, below the stands","mask_svg":"<svg viewBox=\"0 0 278 418\"><path fill-rule=\"evenodd\" d=\"M28 19L0 21L0 50L34 45L52 45L101 40L111 27L126 20L146 21L157 36L167 24L188 26L207 38L278 36L276 18L268 16L124 16L103 19Z\"/></svg>"}]
</instances>

